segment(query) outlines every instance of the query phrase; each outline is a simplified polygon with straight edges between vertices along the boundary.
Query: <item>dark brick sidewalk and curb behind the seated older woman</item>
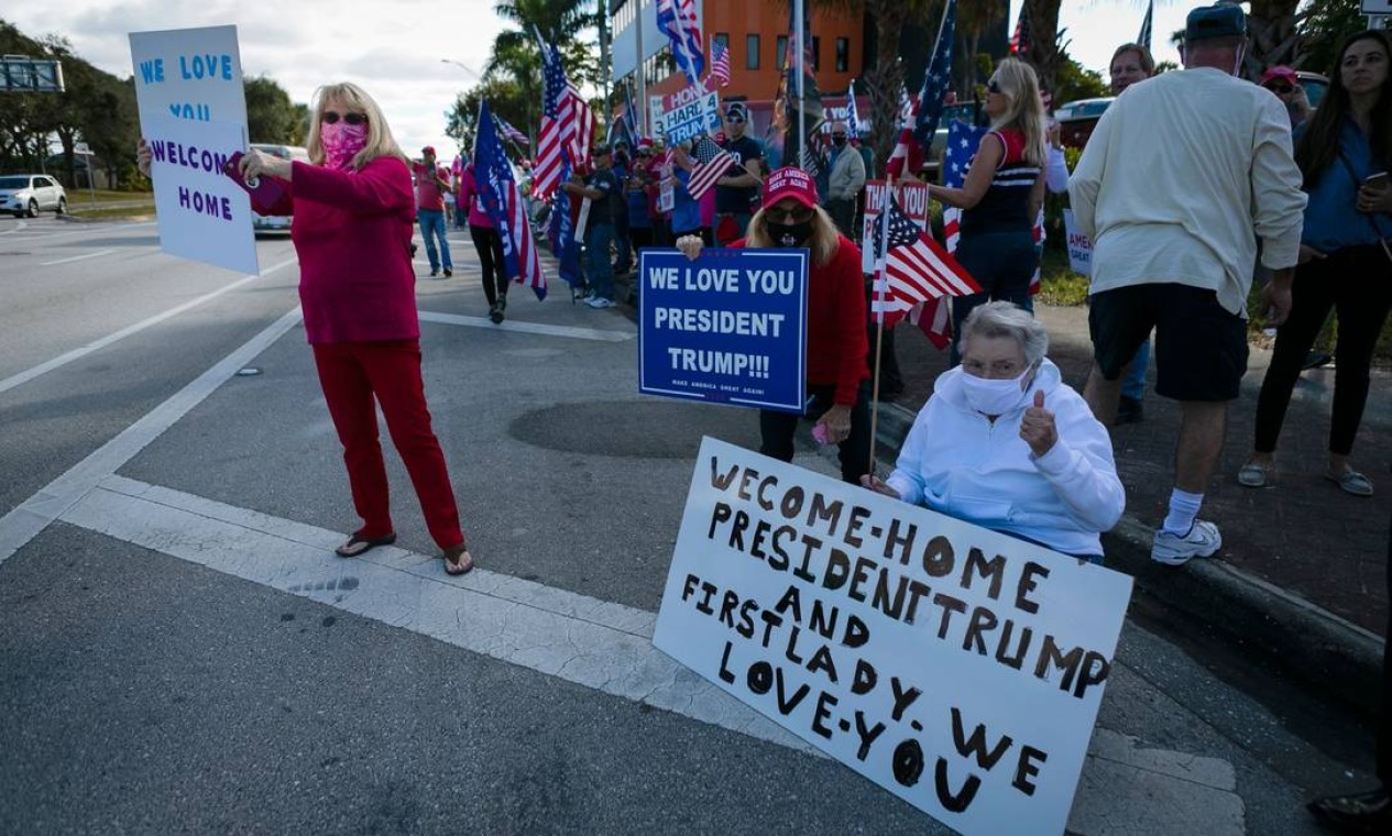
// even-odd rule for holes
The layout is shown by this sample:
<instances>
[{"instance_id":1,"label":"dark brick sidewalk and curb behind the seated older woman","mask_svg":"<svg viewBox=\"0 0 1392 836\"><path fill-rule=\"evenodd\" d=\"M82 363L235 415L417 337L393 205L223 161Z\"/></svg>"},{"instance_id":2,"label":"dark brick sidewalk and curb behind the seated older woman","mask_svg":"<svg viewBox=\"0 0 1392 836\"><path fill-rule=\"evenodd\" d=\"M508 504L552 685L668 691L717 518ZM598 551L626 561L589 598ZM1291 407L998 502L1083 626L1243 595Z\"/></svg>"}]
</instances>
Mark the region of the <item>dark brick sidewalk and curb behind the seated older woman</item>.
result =
<instances>
[{"instance_id":1,"label":"dark brick sidewalk and curb behind the seated older woman","mask_svg":"<svg viewBox=\"0 0 1392 836\"><path fill-rule=\"evenodd\" d=\"M1050 357L1079 392L1091 363L1086 307L1041 305ZM896 330L905 391L881 405L878 441L892 465L933 381L947 369L913 325ZM1253 345L1243 395L1232 405L1218 474L1201 516L1224 536L1211 561L1182 568L1150 559L1155 526L1173 487L1179 406L1146 394L1146 420L1112 431L1116 467L1126 485L1126 515L1104 537L1108 565L1136 577L1137 591L1173 618L1254 648L1313 684L1374 711L1379 693L1382 630L1388 620L1388 497L1392 497L1392 374L1374 371L1352 463L1368 474L1375 495L1357 498L1324 479L1334 367L1306 371L1296 387L1278 449L1274 484L1251 490L1236 481L1251 449L1257 389L1271 353ZM1246 651L1244 651L1246 652Z\"/></svg>"}]
</instances>

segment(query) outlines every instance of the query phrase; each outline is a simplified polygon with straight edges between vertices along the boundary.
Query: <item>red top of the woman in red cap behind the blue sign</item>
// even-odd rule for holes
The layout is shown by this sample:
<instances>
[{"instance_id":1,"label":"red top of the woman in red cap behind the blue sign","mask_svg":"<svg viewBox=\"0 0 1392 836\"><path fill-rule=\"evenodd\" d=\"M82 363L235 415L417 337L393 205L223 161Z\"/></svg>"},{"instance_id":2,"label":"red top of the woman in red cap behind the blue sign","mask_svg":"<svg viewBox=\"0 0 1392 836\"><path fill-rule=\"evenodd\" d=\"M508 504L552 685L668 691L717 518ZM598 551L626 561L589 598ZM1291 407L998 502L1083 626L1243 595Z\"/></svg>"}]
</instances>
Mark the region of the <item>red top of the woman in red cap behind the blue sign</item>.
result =
<instances>
[{"instance_id":1,"label":"red top of the woman in red cap behind the blue sign","mask_svg":"<svg viewBox=\"0 0 1392 836\"><path fill-rule=\"evenodd\" d=\"M837 255L807 275L807 383L835 385L837 403L852 406L860 381L870 377L866 355L866 285L860 248L837 236ZM743 248L745 241L731 246Z\"/></svg>"}]
</instances>

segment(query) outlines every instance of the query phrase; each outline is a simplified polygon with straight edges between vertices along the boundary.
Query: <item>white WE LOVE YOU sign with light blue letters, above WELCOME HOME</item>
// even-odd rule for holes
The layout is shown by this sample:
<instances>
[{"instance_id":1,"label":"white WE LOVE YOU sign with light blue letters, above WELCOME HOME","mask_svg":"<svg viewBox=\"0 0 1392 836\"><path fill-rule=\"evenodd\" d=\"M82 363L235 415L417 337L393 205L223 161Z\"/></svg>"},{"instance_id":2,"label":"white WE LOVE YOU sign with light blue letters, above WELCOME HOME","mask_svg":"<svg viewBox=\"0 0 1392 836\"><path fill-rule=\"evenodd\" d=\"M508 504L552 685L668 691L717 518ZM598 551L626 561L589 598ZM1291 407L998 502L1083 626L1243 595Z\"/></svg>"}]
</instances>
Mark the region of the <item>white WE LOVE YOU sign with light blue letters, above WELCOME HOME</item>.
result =
<instances>
[{"instance_id":1,"label":"white WE LOVE YOU sign with light blue letters, above WELCOME HOME","mask_svg":"<svg viewBox=\"0 0 1392 836\"><path fill-rule=\"evenodd\" d=\"M146 117L246 125L237 26L131 32L135 100Z\"/></svg>"}]
</instances>

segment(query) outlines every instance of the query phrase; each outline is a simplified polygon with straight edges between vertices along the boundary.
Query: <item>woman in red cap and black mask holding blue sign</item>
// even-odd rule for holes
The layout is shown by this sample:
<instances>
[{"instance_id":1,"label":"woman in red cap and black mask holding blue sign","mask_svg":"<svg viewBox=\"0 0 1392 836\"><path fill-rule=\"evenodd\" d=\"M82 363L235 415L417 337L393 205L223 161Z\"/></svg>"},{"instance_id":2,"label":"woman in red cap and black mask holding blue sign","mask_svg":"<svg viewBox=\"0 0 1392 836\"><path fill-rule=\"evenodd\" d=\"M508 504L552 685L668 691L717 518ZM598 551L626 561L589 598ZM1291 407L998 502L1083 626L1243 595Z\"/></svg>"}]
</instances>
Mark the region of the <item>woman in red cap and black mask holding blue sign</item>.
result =
<instances>
[{"instance_id":1,"label":"woman in red cap and black mask holding blue sign","mask_svg":"<svg viewBox=\"0 0 1392 836\"><path fill-rule=\"evenodd\" d=\"M699 235L677 246L700 255ZM749 220L749 235L734 248L798 246L812 250L807 275L807 415L817 416L828 444L841 448L841 479L860 484L870 472L870 388L866 370L866 294L860 249L837 231L817 206L817 186L800 168L780 168L764 182L763 206ZM792 460L798 415L759 410L759 452Z\"/></svg>"}]
</instances>

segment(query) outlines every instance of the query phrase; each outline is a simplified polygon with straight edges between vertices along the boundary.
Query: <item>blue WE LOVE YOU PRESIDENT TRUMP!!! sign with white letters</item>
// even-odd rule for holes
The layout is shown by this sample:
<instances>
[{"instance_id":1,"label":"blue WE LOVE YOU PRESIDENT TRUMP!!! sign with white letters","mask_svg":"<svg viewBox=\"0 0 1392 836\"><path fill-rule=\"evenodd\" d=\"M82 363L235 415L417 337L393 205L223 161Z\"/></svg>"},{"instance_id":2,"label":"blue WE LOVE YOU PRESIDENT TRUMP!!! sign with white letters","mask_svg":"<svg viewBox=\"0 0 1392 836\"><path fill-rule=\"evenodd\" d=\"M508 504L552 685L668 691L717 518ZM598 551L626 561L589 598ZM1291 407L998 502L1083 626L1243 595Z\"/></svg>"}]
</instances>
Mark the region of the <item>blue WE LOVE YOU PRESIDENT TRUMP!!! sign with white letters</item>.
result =
<instances>
[{"instance_id":1,"label":"blue WE LOVE YOU PRESIDENT TRUMP!!! sign with white letters","mask_svg":"<svg viewBox=\"0 0 1392 836\"><path fill-rule=\"evenodd\" d=\"M640 392L803 410L807 250L644 249L638 277Z\"/></svg>"}]
</instances>

